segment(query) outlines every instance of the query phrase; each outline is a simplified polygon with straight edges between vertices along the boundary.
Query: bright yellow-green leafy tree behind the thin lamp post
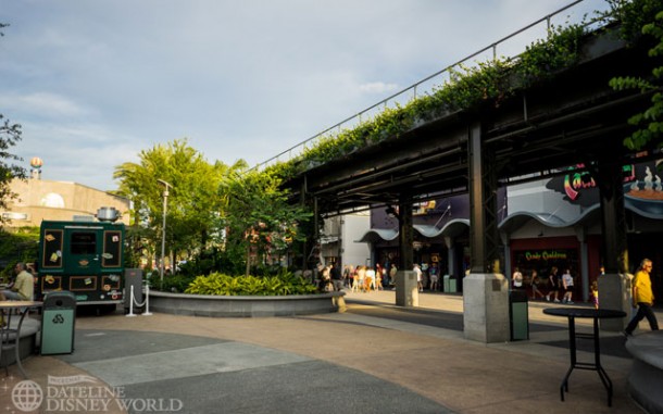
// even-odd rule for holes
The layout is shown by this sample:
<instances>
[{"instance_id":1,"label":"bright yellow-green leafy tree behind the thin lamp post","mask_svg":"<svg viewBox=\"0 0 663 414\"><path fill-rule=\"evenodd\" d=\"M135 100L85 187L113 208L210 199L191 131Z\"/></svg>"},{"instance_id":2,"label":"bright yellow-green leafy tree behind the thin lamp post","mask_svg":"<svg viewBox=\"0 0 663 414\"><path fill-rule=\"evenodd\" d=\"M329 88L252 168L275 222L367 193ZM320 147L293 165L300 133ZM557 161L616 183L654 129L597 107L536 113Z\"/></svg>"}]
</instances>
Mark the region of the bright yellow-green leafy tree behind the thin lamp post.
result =
<instances>
[{"instance_id":1,"label":"bright yellow-green leafy tree behind the thin lamp post","mask_svg":"<svg viewBox=\"0 0 663 414\"><path fill-rule=\"evenodd\" d=\"M223 163L208 163L187 140L157 145L139 153L139 163L115 167L118 195L134 203L129 238L135 251L153 256L161 244L164 187L168 183L166 246L176 255L188 256L203 249L220 210L217 189L232 170ZM242 167L243 161L238 163ZM170 256L170 254L168 254Z\"/></svg>"}]
</instances>

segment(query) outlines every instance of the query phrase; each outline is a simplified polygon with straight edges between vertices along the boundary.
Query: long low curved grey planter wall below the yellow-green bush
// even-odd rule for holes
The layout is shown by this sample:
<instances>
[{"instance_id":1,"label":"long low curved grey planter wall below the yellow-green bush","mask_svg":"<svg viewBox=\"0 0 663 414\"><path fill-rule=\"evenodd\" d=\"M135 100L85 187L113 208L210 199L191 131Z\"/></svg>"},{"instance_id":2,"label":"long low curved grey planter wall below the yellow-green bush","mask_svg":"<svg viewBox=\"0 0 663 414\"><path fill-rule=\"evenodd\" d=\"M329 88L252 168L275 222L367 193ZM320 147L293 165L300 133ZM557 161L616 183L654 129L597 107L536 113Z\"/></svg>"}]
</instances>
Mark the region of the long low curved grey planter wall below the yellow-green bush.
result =
<instances>
[{"instance_id":1,"label":"long low curved grey planter wall below the yellow-green bush","mask_svg":"<svg viewBox=\"0 0 663 414\"><path fill-rule=\"evenodd\" d=\"M150 291L150 312L190 316L259 317L337 312L345 292L287 297L224 297Z\"/></svg>"}]
</instances>

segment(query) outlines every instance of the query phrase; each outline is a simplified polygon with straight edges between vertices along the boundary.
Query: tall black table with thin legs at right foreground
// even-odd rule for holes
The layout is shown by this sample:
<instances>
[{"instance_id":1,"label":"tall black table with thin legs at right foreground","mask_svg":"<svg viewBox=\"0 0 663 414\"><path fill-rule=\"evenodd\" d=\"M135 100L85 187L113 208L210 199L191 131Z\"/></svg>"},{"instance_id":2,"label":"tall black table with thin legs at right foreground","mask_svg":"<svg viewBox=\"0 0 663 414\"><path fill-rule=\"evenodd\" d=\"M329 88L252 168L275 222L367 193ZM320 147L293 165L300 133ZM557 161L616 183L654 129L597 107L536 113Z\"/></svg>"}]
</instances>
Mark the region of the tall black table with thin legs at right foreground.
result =
<instances>
[{"instance_id":1,"label":"tall black table with thin legs at right foreground","mask_svg":"<svg viewBox=\"0 0 663 414\"><path fill-rule=\"evenodd\" d=\"M562 380L560 387L560 396L564 401L564 391L568 392L568 377L574 368L596 371L601 378L601 382L608 390L608 406L612 406L612 381L608 377L608 373L601 366L601 347L599 341L599 319L617 318L626 316L626 312L615 311L610 309L592 309L592 308L548 308L543 310L545 314L554 316L565 316L568 318L568 350L571 351L571 367L566 372L566 376ZM575 328L576 317L593 318L593 334L577 334ZM593 339L593 363L578 362L576 357L576 338Z\"/></svg>"}]
</instances>

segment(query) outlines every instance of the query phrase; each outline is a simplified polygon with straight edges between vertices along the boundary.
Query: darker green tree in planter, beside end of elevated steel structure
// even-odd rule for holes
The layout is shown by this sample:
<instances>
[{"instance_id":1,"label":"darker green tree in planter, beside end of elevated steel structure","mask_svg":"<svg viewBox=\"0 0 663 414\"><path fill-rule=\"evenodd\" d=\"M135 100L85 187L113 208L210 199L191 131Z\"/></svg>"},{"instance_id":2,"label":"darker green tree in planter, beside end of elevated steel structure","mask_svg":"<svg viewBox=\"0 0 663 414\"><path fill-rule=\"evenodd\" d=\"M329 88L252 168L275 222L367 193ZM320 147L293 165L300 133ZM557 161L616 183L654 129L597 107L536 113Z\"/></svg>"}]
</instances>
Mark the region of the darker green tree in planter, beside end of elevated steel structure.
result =
<instances>
[{"instance_id":1,"label":"darker green tree in planter, beside end of elevated steel structure","mask_svg":"<svg viewBox=\"0 0 663 414\"><path fill-rule=\"evenodd\" d=\"M275 174L254 170L236 171L222 180L220 222L226 255L234 258L236 271L242 261L247 276L252 255L257 266L265 265L268 258L280 259L293 241L303 240L299 226L311 214L288 204L288 191L280 184Z\"/></svg>"}]
</instances>

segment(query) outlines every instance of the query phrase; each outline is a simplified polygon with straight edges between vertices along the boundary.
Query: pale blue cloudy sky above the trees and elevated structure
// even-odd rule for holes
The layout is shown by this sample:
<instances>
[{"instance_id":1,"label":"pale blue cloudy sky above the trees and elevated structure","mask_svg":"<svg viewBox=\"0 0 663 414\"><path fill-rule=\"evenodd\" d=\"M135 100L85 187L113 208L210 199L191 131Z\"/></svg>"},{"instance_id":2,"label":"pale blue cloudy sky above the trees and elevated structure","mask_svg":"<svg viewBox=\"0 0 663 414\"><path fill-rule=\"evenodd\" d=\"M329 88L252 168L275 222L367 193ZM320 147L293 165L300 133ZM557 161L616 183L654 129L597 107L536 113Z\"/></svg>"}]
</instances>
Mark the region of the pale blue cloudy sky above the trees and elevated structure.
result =
<instances>
[{"instance_id":1,"label":"pale blue cloudy sky above the trees and elevated structure","mask_svg":"<svg viewBox=\"0 0 663 414\"><path fill-rule=\"evenodd\" d=\"M570 3L0 0L0 114L43 179L113 190L118 165L175 139L253 166Z\"/></svg>"}]
</instances>

